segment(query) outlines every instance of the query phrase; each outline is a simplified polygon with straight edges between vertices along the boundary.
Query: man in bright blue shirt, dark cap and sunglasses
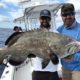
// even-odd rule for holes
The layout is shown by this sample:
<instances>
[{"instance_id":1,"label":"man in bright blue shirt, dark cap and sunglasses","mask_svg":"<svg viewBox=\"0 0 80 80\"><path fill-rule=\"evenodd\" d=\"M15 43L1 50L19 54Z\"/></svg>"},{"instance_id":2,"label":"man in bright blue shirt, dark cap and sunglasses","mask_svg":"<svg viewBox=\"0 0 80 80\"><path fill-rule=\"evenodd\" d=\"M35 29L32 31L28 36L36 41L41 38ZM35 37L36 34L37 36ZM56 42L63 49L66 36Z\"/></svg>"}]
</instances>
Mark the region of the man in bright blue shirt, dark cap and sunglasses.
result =
<instances>
[{"instance_id":1,"label":"man in bright blue shirt, dark cap and sunglasses","mask_svg":"<svg viewBox=\"0 0 80 80\"><path fill-rule=\"evenodd\" d=\"M73 4L67 3L61 7L63 25L57 31L72 39L80 41L80 24L75 19ZM71 57L61 59L63 80L80 80L80 51Z\"/></svg>"}]
</instances>

